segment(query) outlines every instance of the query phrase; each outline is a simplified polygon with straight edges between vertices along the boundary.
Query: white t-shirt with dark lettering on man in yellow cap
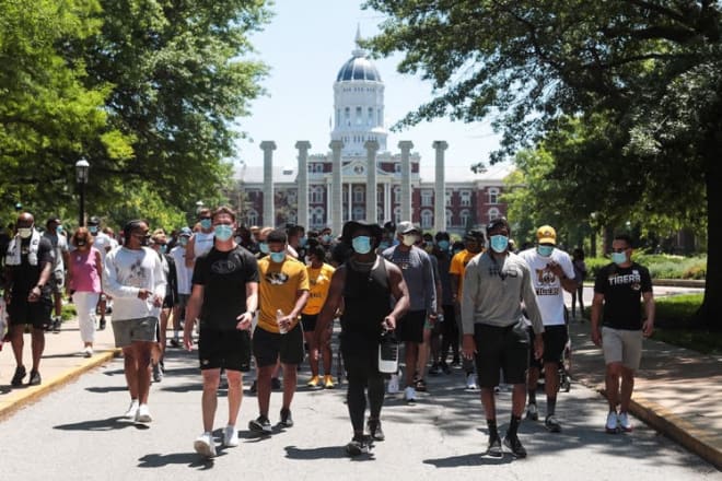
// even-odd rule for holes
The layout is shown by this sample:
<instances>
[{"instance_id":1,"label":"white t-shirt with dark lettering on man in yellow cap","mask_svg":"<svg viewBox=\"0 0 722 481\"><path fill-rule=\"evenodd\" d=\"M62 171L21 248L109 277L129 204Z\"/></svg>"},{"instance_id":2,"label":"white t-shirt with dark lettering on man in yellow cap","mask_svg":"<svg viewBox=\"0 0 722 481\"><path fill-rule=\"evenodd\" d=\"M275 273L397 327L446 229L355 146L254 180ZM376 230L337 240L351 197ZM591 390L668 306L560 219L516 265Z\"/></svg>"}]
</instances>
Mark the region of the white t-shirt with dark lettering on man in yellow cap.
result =
<instances>
[{"instance_id":1,"label":"white t-shirt with dark lettering on man in yellow cap","mask_svg":"<svg viewBox=\"0 0 722 481\"><path fill-rule=\"evenodd\" d=\"M532 270L532 285L536 292L537 304L542 312L545 326L559 326L564 324L564 290L561 281L547 268L550 261L557 262L564 271L564 275L574 279L574 267L569 254L555 247L551 256L542 257L536 247L519 254Z\"/></svg>"}]
</instances>

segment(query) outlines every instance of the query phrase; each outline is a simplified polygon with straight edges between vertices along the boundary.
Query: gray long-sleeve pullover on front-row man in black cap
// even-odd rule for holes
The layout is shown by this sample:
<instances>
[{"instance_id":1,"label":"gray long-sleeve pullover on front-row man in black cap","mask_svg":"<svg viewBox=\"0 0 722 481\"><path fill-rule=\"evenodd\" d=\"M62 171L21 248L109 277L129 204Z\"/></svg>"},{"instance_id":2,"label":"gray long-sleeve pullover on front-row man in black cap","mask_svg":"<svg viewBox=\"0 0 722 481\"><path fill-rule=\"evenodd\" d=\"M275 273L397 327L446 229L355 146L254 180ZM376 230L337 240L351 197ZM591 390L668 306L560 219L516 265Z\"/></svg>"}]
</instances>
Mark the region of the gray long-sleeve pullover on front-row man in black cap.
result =
<instances>
[{"instance_id":1,"label":"gray long-sleeve pullover on front-row man in black cap","mask_svg":"<svg viewBox=\"0 0 722 481\"><path fill-rule=\"evenodd\" d=\"M522 301L534 332L544 332L528 265L511 253L503 259L494 259L488 251L476 256L464 273L464 333L473 335L475 324L506 327L519 322Z\"/></svg>"}]
</instances>

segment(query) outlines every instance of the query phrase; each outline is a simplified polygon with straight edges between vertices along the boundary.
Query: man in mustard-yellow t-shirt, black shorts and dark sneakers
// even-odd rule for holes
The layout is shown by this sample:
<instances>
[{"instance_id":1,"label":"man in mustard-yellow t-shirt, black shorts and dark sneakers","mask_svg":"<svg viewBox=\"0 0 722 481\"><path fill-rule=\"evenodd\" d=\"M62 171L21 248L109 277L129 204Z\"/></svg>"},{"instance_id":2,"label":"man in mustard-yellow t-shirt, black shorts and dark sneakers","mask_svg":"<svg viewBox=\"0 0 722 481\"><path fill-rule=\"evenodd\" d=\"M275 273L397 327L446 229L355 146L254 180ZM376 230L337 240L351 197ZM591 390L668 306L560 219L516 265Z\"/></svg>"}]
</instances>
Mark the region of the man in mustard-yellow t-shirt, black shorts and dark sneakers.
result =
<instances>
[{"instance_id":1,"label":"man in mustard-yellow t-shirt, black shorts and dark sneakers","mask_svg":"<svg viewBox=\"0 0 722 481\"><path fill-rule=\"evenodd\" d=\"M291 401L295 394L298 365L303 361L303 329L299 320L308 300L306 267L287 255L286 231L276 230L266 237L268 256L258 260L260 312L253 335L253 354L258 368L257 419L248 423L256 433L270 434L268 420L271 375L280 357L283 368L283 404L280 425L291 427Z\"/></svg>"}]
</instances>

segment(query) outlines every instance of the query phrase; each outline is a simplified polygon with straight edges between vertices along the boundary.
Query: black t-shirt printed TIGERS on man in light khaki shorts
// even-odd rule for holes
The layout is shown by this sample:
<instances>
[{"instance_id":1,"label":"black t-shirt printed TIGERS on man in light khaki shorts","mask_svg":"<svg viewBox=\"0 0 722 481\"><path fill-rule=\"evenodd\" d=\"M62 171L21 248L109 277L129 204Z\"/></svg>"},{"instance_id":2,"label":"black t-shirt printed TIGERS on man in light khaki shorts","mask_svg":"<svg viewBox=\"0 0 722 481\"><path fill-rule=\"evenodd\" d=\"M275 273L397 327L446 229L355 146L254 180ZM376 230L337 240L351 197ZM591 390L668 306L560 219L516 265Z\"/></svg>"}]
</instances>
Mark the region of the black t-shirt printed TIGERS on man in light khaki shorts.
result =
<instances>
[{"instance_id":1,"label":"black t-shirt printed TIGERS on man in light khaki shorts","mask_svg":"<svg viewBox=\"0 0 722 481\"><path fill-rule=\"evenodd\" d=\"M603 326L614 329L642 328L641 294L652 292L650 271L637 262L621 268L616 263L603 267L596 274L594 292L604 294Z\"/></svg>"}]
</instances>

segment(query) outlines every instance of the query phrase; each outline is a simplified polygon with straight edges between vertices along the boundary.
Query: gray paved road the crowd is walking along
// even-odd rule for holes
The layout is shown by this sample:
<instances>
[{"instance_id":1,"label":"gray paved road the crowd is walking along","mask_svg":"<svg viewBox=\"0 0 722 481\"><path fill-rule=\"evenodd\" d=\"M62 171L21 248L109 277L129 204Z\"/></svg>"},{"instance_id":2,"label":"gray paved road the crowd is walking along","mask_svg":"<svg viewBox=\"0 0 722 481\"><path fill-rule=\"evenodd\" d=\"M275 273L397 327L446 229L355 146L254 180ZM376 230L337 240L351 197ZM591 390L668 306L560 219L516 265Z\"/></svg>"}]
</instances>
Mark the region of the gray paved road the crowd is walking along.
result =
<instances>
[{"instance_id":1,"label":"gray paved road the crowd is walking along","mask_svg":"<svg viewBox=\"0 0 722 481\"><path fill-rule=\"evenodd\" d=\"M121 360L92 371L39 402L0 422L3 479L113 480L706 480L722 474L699 457L660 436L640 422L629 435L602 430L606 406L581 385L561 394L558 412L562 434L539 424L522 424L529 451L524 460L482 457L486 426L478 395L461 388L462 373L429 378L433 394L416 406L387 399L383 412L387 441L374 456L350 460L341 446L351 434L345 389L302 388L293 404L296 425L269 438L246 429L257 415L256 399L244 398L241 446L221 449L212 462L193 450L200 434L200 376L195 354L170 351L168 372L153 385L154 421L137 426L119 417L128 403ZM300 379L305 382L304 371ZM247 383L246 383L247 385ZM509 419L510 395L499 395L502 429ZM277 422L280 392L271 398ZM220 400L217 434L224 425L225 399ZM503 432L503 431L502 431Z\"/></svg>"}]
</instances>

